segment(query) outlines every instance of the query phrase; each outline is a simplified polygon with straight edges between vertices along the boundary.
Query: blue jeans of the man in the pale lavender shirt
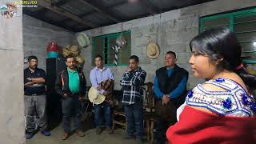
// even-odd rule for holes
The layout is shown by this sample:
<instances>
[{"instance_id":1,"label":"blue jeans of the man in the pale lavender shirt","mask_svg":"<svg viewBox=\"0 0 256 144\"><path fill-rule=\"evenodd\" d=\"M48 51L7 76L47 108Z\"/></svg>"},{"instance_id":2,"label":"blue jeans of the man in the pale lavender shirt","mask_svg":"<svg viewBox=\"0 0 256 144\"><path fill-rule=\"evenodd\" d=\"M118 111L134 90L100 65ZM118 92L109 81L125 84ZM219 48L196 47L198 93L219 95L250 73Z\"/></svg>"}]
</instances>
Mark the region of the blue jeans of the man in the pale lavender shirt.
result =
<instances>
[{"instance_id":1,"label":"blue jeans of the man in the pale lavender shirt","mask_svg":"<svg viewBox=\"0 0 256 144\"><path fill-rule=\"evenodd\" d=\"M103 126L103 119L105 118L106 128L112 127L112 113L110 104L102 102L101 104L94 105L94 117L96 127Z\"/></svg>"}]
</instances>

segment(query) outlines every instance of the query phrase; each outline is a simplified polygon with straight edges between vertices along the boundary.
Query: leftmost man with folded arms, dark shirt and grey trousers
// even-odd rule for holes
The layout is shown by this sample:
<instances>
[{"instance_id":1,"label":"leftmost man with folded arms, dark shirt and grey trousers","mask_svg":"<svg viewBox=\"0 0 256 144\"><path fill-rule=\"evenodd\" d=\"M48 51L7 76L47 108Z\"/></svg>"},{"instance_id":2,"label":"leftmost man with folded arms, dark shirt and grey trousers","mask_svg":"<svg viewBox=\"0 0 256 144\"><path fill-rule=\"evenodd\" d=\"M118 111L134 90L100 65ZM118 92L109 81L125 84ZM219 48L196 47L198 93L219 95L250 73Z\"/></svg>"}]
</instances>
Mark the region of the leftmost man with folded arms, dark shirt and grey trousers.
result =
<instances>
[{"instance_id":1,"label":"leftmost man with folded arms, dark shirt and grey trousers","mask_svg":"<svg viewBox=\"0 0 256 144\"><path fill-rule=\"evenodd\" d=\"M26 113L26 139L34 136L34 114L38 114L39 129L41 133L50 136L50 131L46 130L46 72L38 68L38 58L30 56L28 58L29 67L24 70L24 92L25 92L25 113Z\"/></svg>"}]
</instances>

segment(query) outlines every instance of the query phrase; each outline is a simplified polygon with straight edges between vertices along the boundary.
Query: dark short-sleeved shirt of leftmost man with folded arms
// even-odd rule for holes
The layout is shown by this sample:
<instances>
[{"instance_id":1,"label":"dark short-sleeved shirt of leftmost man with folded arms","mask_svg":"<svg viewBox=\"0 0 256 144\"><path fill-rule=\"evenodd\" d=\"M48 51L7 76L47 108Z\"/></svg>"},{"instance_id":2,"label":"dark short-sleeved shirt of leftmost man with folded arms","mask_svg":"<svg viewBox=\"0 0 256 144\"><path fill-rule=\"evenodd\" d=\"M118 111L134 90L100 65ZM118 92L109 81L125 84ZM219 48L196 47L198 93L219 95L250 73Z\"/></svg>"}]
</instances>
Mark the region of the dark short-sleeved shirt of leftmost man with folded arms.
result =
<instances>
[{"instance_id":1,"label":"dark short-sleeved shirt of leftmost man with folded arms","mask_svg":"<svg viewBox=\"0 0 256 144\"><path fill-rule=\"evenodd\" d=\"M45 70L36 68L34 72L30 71L29 68L26 68L24 70L24 84L29 82L26 78L44 78L46 79L46 72ZM46 93L46 87L45 84L34 84L28 87L24 87L25 94L45 94Z\"/></svg>"}]
</instances>

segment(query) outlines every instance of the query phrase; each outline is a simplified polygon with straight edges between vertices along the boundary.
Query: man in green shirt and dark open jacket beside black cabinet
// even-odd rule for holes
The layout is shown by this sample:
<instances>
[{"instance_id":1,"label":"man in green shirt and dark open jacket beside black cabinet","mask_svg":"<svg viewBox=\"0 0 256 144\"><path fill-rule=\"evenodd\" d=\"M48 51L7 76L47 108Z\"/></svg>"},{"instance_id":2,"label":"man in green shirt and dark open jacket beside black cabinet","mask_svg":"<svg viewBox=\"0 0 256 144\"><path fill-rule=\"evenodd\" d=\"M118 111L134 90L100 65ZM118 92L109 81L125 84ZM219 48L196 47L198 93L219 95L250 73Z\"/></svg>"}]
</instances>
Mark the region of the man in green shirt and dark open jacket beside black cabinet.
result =
<instances>
[{"instance_id":1,"label":"man in green shirt and dark open jacket beside black cabinet","mask_svg":"<svg viewBox=\"0 0 256 144\"><path fill-rule=\"evenodd\" d=\"M64 137L66 140L70 136L70 118L75 116L75 125L77 134L80 137L85 136L81 127L81 102L86 94L86 78L82 70L75 67L74 56L66 57L66 70L58 74L55 82L55 90L62 96L62 114L64 125Z\"/></svg>"}]
</instances>

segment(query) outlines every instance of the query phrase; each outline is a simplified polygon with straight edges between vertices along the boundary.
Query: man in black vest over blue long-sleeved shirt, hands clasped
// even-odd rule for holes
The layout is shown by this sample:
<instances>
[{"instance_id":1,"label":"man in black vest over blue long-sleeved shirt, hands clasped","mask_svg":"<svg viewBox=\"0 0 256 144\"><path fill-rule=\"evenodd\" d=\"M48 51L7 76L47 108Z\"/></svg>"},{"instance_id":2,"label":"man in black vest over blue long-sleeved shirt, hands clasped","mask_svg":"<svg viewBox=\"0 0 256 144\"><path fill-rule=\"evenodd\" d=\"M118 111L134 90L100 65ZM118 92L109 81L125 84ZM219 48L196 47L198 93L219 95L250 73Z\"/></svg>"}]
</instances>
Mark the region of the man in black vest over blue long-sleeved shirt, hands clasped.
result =
<instances>
[{"instance_id":1,"label":"man in black vest over blue long-sleeved shirt, hands clasped","mask_svg":"<svg viewBox=\"0 0 256 144\"><path fill-rule=\"evenodd\" d=\"M168 51L165 56L166 66L156 70L154 95L158 99L156 143L165 143L166 130L177 122L176 110L186 98L188 72L176 65L176 54Z\"/></svg>"}]
</instances>

